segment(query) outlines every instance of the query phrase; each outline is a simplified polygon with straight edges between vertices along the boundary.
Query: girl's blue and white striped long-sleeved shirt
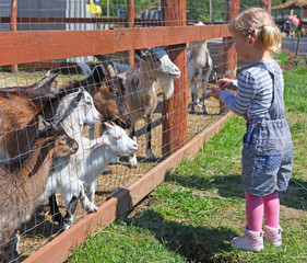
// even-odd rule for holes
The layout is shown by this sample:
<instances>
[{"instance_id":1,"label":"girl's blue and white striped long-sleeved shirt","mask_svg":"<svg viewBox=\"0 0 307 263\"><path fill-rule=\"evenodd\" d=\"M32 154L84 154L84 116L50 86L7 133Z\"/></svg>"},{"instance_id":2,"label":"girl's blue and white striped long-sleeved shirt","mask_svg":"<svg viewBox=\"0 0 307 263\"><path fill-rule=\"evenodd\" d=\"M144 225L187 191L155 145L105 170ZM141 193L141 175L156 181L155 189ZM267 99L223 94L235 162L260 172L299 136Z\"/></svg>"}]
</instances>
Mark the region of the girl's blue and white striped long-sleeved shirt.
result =
<instances>
[{"instance_id":1,"label":"girl's blue and white striped long-sleeved shirt","mask_svg":"<svg viewBox=\"0 0 307 263\"><path fill-rule=\"evenodd\" d=\"M238 80L233 84L237 85L237 95L229 91L223 91L220 99L234 113L245 116L247 111L251 118L262 118L268 113L273 96L273 79L267 70L274 71L274 61L257 62L243 70ZM267 67L267 68L265 68ZM282 89L284 85L283 76L281 78Z\"/></svg>"}]
</instances>

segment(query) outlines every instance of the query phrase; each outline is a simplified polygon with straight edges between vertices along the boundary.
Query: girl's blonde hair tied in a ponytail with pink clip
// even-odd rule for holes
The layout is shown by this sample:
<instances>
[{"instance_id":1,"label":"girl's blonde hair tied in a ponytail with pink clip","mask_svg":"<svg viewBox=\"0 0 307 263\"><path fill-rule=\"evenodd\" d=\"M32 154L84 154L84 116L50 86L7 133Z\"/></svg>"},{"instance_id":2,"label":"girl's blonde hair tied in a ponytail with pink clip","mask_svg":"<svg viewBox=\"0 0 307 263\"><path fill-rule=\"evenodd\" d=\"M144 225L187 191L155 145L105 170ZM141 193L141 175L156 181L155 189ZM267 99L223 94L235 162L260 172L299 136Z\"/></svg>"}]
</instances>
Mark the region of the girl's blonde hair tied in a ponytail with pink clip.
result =
<instances>
[{"instance_id":1,"label":"girl's blonde hair tied in a ponytail with pink clip","mask_svg":"<svg viewBox=\"0 0 307 263\"><path fill-rule=\"evenodd\" d=\"M253 26L252 26L253 25ZM269 52L278 53L282 46L282 35L267 10L251 8L237 14L229 23L232 35L237 33L261 42Z\"/></svg>"}]
</instances>

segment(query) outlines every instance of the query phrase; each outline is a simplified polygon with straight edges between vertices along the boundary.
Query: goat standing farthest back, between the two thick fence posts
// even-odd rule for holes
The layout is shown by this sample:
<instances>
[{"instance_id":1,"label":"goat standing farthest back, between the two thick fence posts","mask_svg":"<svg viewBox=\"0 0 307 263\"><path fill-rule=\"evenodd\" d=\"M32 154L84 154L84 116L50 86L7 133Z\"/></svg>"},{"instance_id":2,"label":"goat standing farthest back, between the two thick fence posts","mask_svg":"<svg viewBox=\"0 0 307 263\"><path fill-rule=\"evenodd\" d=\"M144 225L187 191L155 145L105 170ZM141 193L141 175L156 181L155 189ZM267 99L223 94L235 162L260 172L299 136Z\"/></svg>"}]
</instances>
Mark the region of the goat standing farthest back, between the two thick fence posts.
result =
<instances>
[{"instance_id":1,"label":"goat standing farthest back, between the two thick fence posts","mask_svg":"<svg viewBox=\"0 0 307 263\"><path fill-rule=\"evenodd\" d=\"M204 25L202 22L197 23L196 25ZM208 114L205 107L205 91L206 83L209 81L210 73L212 71L212 59L210 57L206 41L193 42L190 48L187 52L188 57L188 80L191 87L191 113L196 113L196 104L201 107L199 104L198 91L202 87L202 111L203 114Z\"/></svg>"}]
</instances>

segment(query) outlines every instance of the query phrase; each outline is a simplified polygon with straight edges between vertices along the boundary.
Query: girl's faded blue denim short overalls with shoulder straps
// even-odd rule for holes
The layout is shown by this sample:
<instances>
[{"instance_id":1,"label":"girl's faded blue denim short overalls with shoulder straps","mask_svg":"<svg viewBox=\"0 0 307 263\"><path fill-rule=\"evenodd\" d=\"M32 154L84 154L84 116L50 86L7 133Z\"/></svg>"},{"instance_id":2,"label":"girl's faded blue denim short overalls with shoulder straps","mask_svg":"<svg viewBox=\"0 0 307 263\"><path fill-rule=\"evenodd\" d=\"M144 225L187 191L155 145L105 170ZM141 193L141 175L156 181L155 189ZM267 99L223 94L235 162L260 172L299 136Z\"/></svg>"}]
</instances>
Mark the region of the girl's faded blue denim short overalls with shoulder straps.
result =
<instances>
[{"instance_id":1,"label":"girl's faded blue denim short overalls with shoulder straps","mask_svg":"<svg viewBox=\"0 0 307 263\"><path fill-rule=\"evenodd\" d=\"M292 173L293 144L285 118L281 68L265 69L273 80L273 99L263 118L248 118L241 152L243 187L250 195L265 196L285 191ZM255 65L257 67L257 65Z\"/></svg>"}]
</instances>

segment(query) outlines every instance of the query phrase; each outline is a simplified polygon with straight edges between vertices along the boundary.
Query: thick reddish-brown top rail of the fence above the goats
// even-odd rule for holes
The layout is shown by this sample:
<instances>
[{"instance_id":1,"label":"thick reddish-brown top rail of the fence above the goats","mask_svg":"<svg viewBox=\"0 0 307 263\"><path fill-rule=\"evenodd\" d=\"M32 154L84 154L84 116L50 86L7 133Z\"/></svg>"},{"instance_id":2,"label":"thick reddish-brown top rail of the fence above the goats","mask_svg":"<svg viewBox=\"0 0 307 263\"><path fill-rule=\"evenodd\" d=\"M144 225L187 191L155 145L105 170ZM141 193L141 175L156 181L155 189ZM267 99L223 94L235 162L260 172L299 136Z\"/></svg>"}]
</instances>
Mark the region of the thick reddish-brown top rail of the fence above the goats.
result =
<instances>
[{"instance_id":1,"label":"thick reddish-brown top rail of the fence above the goats","mask_svg":"<svg viewBox=\"0 0 307 263\"><path fill-rule=\"evenodd\" d=\"M102 31L0 32L0 66L227 37L227 24Z\"/></svg>"}]
</instances>

